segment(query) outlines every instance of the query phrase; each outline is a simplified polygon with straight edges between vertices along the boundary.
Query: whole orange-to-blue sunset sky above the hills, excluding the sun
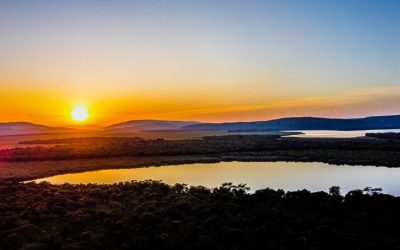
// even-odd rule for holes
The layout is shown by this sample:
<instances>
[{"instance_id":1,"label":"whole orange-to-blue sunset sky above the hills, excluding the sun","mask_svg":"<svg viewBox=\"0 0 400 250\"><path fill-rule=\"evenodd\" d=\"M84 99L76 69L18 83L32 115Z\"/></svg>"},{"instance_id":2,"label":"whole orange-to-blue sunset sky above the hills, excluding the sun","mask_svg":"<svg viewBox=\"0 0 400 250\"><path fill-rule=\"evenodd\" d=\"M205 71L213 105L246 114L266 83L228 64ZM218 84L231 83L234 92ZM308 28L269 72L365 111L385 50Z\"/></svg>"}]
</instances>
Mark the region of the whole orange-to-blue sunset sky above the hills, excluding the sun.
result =
<instances>
[{"instance_id":1,"label":"whole orange-to-blue sunset sky above the hills, excluding the sun","mask_svg":"<svg viewBox=\"0 0 400 250\"><path fill-rule=\"evenodd\" d=\"M0 122L400 114L400 1L0 1Z\"/></svg>"}]
</instances>

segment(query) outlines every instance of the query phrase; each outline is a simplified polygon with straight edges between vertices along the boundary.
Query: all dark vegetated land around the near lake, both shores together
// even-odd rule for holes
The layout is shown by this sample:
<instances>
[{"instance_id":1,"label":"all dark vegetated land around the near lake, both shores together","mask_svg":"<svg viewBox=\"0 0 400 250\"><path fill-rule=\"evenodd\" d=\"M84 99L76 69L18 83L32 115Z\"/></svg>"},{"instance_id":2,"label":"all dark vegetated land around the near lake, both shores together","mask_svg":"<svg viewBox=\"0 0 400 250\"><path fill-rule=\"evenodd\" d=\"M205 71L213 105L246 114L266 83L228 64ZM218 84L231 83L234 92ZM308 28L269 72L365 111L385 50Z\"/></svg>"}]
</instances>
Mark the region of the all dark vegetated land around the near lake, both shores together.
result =
<instances>
[{"instance_id":1,"label":"all dark vegetated land around the near lake, both shores together","mask_svg":"<svg viewBox=\"0 0 400 250\"><path fill-rule=\"evenodd\" d=\"M48 143L62 145L0 150L0 249L400 248L400 198L379 189L345 196L339 187L329 193L264 189L249 194L245 185L230 183L210 190L154 181L15 181L101 168L230 160L398 167L400 141L253 135Z\"/></svg>"}]
</instances>

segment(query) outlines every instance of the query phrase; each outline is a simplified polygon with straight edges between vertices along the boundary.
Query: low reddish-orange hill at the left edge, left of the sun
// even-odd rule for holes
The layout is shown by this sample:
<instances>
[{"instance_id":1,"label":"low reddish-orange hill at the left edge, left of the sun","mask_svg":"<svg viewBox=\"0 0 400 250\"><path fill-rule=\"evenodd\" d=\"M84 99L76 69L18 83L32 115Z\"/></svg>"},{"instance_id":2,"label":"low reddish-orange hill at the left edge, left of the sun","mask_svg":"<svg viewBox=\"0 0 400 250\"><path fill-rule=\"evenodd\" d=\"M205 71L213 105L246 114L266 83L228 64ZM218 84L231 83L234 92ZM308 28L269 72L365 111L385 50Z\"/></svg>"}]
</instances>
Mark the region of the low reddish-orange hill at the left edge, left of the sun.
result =
<instances>
[{"instance_id":1,"label":"low reddish-orange hill at the left edge, left of the sun","mask_svg":"<svg viewBox=\"0 0 400 250\"><path fill-rule=\"evenodd\" d=\"M24 135L24 134L47 134L71 132L73 129L63 127L49 127L29 122L6 122L0 123L0 136Z\"/></svg>"}]
</instances>

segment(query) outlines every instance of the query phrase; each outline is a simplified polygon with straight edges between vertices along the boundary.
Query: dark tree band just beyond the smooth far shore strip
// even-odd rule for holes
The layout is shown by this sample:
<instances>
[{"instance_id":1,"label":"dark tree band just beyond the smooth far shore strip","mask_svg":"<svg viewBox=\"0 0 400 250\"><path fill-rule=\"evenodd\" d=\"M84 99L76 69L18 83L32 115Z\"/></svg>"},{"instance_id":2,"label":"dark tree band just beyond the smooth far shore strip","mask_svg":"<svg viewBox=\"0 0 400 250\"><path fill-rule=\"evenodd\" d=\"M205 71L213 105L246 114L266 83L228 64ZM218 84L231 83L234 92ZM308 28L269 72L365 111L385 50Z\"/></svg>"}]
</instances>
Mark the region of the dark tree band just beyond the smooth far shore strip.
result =
<instances>
[{"instance_id":1,"label":"dark tree band just beyond the smooth far shore strip","mask_svg":"<svg viewBox=\"0 0 400 250\"><path fill-rule=\"evenodd\" d=\"M280 138L269 135L210 136L186 140L143 140L139 138L80 138L51 140L66 143L53 147L27 147L0 150L0 161L40 161L120 156L215 155L221 153L292 151L311 160L333 159L341 163L342 155L354 154L354 159L374 155L381 162L398 166L400 141L375 139L306 139ZM38 142L38 141L36 141ZM79 142L79 143L77 143ZM25 142L26 143L26 142ZM31 142L33 143L33 142ZM39 141L45 143L45 141ZM396 165L397 164L397 165Z\"/></svg>"}]
</instances>

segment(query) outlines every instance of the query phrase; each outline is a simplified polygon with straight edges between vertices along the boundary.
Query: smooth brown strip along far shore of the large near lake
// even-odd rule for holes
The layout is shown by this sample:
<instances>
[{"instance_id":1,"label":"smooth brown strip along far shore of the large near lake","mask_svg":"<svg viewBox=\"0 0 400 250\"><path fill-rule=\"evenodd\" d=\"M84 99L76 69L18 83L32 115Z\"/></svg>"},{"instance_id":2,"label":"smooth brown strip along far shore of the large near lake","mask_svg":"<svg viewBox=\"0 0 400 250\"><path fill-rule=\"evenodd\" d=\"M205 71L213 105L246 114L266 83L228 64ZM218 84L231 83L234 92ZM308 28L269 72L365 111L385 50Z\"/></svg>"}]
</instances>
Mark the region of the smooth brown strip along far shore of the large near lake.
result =
<instances>
[{"instance_id":1,"label":"smooth brown strip along far shore of the large near lake","mask_svg":"<svg viewBox=\"0 0 400 250\"><path fill-rule=\"evenodd\" d=\"M318 160L314 155L304 155L300 152L248 152L234 155L185 155L185 156L156 156L156 157L113 157L96 159L77 159L62 161L40 162L2 162L0 163L0 180L31 181L60 174L82 173L106 169L129 169L144 167L163 167L169 165L218 163L218 162L321 162L329 165L398 167L377 161L351 161L354 152L339 159L329 159L326 152L325 160ZM349 152L347 152L349 153ZM342 155L343 156L343 155Z\"/></svg>"}]
</instances>

